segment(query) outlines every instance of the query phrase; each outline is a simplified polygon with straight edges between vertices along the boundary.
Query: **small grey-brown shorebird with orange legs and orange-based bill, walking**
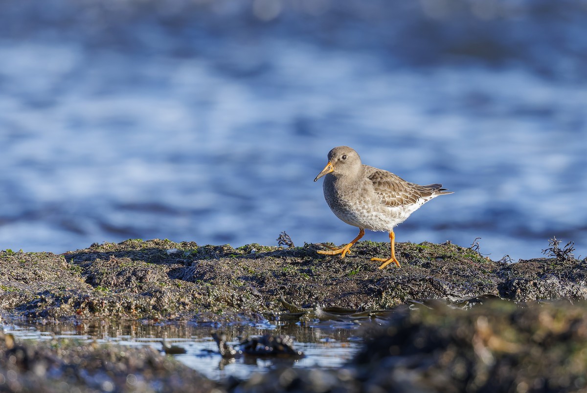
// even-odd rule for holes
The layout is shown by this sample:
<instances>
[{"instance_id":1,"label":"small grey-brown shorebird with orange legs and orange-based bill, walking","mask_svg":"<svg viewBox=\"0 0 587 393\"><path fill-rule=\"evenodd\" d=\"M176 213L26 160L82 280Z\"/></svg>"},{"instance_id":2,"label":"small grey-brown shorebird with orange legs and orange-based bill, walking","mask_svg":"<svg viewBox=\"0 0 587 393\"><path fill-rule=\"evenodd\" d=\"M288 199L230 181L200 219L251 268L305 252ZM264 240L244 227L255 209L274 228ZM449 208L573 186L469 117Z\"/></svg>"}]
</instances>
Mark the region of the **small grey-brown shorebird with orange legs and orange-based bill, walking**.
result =
<instances>
[{"instance_id":1,"label":"small grey-brown shorebird with orange legs and orange-based bill, walking","mask_svg":"<svg viewBox=\"0 0 587 393\"><path fill-rule=\"evenodd\" d=\"M345 258L350 248L365 236L365 229L389 232L390 258L372 258L401 267L395 253L393 228L423 204L439 195L453 194L442 184L419 185L379 168L363 165L359 154L348 146L335 147L328 153L328 164L314 181L324 177L322 188L330 210L342 221L359 228L359 235L341 248L319 250L319 254Z\"/></svg>"}]
</instances>

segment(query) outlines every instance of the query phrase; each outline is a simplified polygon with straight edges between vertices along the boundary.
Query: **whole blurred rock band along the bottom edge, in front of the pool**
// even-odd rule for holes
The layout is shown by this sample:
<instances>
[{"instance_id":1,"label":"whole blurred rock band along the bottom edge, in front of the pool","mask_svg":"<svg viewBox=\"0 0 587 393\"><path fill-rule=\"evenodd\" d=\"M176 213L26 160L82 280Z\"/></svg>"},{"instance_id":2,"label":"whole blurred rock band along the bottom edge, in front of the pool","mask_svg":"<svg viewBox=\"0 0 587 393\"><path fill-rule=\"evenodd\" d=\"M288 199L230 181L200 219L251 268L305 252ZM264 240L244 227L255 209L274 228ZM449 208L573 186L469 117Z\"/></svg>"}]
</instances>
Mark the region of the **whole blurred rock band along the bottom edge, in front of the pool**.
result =
<instances>
[{"instance_id":1,"label":"whole blurred rock band along the bottom edge, in front of the pool","mask_svg":"<svg viewBox=\"0 0 587 393\"><path fill-rule=\"evenodd\" d=\"M213 382L152 348L0 334L1 391L564 392L587 388L587 305L399 307L338 370L284 367ZM373 326L373 325L371 325ZM220 353L218 358L220 358Z\"/></svg>"}]
</instances>

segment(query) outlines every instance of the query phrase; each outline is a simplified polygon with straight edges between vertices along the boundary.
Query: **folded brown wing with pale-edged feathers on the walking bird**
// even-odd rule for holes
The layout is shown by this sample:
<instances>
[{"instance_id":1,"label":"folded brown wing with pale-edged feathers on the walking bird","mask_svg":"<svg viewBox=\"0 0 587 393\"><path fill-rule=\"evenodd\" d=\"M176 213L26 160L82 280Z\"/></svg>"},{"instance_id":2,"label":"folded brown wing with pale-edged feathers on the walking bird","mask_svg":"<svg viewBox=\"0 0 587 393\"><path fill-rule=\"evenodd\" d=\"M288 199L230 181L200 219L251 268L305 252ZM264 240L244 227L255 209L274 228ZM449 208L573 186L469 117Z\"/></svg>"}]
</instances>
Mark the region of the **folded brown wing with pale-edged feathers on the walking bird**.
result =
<instances>
[{"instance_id":1,"label":"folded brown wing with pale-edged feathers on the walking bird","mask_svg":"<svg viewBox=\"0 0 587 393\"><path fill-rule=\"evenodd\" d=\"M419 185L405 181L392 172L366 167L367 177L373 183L375 194L387 206L415 204L421 198L430 198L440 189L439 184Z\"/></svg>"}]
</instances>

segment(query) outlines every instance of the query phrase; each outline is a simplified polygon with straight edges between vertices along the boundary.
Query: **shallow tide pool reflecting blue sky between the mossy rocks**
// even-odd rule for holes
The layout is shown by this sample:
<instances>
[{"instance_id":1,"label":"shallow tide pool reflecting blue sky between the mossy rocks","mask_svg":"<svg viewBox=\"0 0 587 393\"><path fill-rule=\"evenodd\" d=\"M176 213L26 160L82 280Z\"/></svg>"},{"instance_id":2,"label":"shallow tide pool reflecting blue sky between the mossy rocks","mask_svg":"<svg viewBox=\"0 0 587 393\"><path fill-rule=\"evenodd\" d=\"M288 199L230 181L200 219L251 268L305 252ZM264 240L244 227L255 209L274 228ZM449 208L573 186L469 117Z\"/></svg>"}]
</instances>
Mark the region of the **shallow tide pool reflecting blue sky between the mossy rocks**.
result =
<instances>
[{"instance_id":1,"label":"shallow tide pool reflecting blue sky between the mossy rocks","mask_svg":"<svg viewBox=\"0 0 587 393\"><path fill-rule=\"evenodd\" d=\"M295 367L339 367L350 360L359 347L357 330L338 328L336 323L319 323L320 327L302 327L296 324L279 326L269 322L221 327L218 324L200 326L198 324L157 325L138 321L129 323L98 324L46 324L28 327L2 325L4 333L11 333L21 340L50 340L52 338L75 338L97 343L120 345L150 345L162 351L162 338L169 344L186 350L185 354L173 355L185 365L201 372L208 378L221 380L234 376L248 378L252 372L263 372L280 365ZM255 358L244 356L236 360L223 360L211 331L221 328L227 333L230 344L239 343L241 338L263 334L284 334L295 337L294 347L306 355L300 360Z\"/></svg>"}]
</instances>

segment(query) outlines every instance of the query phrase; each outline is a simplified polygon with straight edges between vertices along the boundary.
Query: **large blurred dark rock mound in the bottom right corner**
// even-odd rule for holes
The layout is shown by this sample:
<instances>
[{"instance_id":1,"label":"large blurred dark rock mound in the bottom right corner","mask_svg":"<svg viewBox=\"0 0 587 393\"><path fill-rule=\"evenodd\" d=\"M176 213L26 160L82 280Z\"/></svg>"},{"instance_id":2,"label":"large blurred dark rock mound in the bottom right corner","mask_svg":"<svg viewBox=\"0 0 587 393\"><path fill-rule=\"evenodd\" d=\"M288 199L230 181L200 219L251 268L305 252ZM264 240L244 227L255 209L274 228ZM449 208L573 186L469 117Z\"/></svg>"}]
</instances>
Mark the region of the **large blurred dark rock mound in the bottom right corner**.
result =
<instances>
[{"instance_id":1,"label":"large blurred dark rock mound in the bottom right corner","mask_svg":"<svg viewBox=\"0 0 587 393\"><path fill-rule=\"evenodd\" d=\"M587 388L587 304L492 300L397 313L338 370L282 368L238 392L565 392Z\"/></svg>"}]
</instances>

